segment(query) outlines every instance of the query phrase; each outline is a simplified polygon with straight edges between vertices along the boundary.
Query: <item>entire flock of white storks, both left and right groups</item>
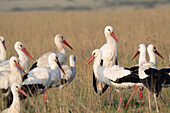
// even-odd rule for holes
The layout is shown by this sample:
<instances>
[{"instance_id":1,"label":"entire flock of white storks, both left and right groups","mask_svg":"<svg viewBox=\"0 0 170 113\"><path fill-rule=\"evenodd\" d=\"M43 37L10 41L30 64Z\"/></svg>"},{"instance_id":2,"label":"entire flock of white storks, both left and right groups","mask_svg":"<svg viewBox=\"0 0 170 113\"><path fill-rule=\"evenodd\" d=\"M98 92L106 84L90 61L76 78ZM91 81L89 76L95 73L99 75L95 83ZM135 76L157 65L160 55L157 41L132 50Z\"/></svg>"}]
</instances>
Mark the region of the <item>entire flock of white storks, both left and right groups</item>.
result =
<instances>
[{"instance_id":1,"label":"entire flock of white storks, both left and right groups","mask_svg":"<svg viewBox=\"0 0 170 113\"><path fill-rule=\"evenodd\" d=\"M120 109L122 103L121 91L125 89L135 88L129 98L126 107L133 97L134 93L140 88L140 97L143 101L143 88L147 89L149 109L151 111L150 93L154 95L156 110L159 112L157 99L160 95L162 87L170 85L170 67L163 69L157 68L156 55L164 59L156 50L153 44L149 44L146 48L145 44L140 44L134 59L138 54L139 62L132 67L122 67L118 65L118 39L111 26L106 26L104 34L107 43L100 49L92 52L92 57L86 64L93 63L93 88L96 93L101 95L109 87L111 102L111 87L115 88L119 94ZM64 40L63 35L57 34L54 42L58 48L57 52L49 51L40 56L30 68L29 58L33 57L25 49L22 42L17 41L14 45L18 58L12 56L7 60L7 52L5 47L5 37L0 36L0 97L3 98L3 113L20 112L20 100L28 97L43 94L44 102L47 104L47 89L58 87L60 89L59 101L61 101L61 91L67 86L76 75L76 57L70 55L69 65L67 63L67 52L63 46L65 44L71 50L73 48ZM146 60L146 50L149 54L150 61ZM28 57L27 57L28 56ZM29 69L30 68L30 69Z\"/></svg>"}]
</instances>

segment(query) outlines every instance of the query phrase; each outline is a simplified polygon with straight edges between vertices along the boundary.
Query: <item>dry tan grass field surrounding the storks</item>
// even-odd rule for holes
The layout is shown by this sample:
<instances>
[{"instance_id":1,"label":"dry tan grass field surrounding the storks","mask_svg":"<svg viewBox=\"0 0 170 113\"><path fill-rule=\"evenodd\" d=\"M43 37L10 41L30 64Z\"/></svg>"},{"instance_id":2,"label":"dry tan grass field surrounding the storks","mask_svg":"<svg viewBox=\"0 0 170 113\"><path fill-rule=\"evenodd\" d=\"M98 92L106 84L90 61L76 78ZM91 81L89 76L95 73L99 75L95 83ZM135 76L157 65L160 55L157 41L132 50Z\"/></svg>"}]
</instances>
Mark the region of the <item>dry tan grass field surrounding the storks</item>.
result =
<instances>
[{"instance_id":1,"label":"dry tan grass field surrounding the storks","mask_svg":"<svg viewBox=\"0 0 170 113\"><path fill-rule=\"evenodd\" d=\"M57 51L54 44L54 36L63 34L65 40L74 48L71 51L66 46L68 55L76 56L77 74L73 82L62 92L62 101L59 103L59 89L48 90L47 106L43 103L42 95L26 99L26 103L34 109L37 105L37 113L58 112L115 112L118 107L119 97L112 89L112 103L109 104L109 92L104 96L101 104L100 96L92 87L92 64L84 68L91 57L91 52L100 48L105 42L104 27L111 25L119 40L118 56L119 65L123 67L134 66L138 58L131 60L140 43L146 45L153 43L165 60L157 57L158 68L170 64L170 8L138 9L138 10L104 10L104 11L68 11L68 12L1 12L0 35L6 37L8 58L17 55L13 46L16 41L25 44L30 54L37 59L47 51ZM31 61L31 64L33 61ZM149 112L147 93L144 90L144 103L141 103L139 91L136 92L127 110L125 103L133 90L122 91L122 106L118 113L122 112ZM165 104L158 98L161 113L170 111L170 91L162 91ZM151 99L153 100L153 98ZM1 101L1 100L0 100ZM31 110L21 105L23 113L31 113ZM2 106L0 105L0 111ZM155 103L152 101L152 112L156 112Z\"/></svg>"}]
</instances>

